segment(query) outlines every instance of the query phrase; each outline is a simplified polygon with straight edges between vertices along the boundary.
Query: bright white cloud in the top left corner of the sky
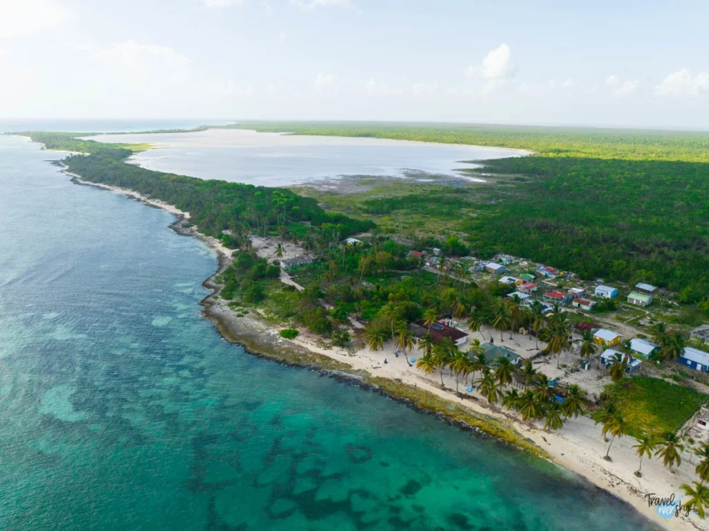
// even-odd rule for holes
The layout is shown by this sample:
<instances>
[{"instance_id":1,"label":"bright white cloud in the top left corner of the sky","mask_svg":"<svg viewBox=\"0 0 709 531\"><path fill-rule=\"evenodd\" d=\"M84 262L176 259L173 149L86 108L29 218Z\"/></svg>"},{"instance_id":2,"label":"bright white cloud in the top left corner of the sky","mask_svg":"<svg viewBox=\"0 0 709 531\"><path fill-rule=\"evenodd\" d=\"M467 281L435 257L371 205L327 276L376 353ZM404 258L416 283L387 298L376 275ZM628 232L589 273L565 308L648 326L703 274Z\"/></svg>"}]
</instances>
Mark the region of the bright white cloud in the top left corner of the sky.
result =
<instances>
[{"instance_id":1,"label":"bright white cloud in the top left corner of the sky","mask_svg":"<svg viewBox=\"0 0 709 531\"><path fill-rule=\"evenodd\" d=\"M68 18L69 11L53 0L0 0L0 39L59 28Z\"/></svg>"}]
</instances>

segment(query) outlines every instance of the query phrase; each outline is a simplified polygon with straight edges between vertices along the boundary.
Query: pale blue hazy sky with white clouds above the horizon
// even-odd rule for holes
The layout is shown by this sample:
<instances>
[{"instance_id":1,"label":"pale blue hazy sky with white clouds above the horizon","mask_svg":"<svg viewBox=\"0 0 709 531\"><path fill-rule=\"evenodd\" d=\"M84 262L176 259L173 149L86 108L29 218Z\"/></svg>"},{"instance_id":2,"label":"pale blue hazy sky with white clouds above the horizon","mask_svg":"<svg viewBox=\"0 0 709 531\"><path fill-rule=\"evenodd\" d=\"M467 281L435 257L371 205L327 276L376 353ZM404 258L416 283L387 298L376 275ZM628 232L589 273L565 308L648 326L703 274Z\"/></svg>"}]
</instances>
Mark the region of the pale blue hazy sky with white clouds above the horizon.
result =
<instances>
[{"instance_id":1,"label":"pale blue hazy sky with white clouds above the horizon","mask_svg":"<svg viewBox=\"0 0 709 531\"><path fill-rule=\"evenodd\" d=\"M0 118L709 130L705 0L0 0Z\"/></svg>"}]
</instances>

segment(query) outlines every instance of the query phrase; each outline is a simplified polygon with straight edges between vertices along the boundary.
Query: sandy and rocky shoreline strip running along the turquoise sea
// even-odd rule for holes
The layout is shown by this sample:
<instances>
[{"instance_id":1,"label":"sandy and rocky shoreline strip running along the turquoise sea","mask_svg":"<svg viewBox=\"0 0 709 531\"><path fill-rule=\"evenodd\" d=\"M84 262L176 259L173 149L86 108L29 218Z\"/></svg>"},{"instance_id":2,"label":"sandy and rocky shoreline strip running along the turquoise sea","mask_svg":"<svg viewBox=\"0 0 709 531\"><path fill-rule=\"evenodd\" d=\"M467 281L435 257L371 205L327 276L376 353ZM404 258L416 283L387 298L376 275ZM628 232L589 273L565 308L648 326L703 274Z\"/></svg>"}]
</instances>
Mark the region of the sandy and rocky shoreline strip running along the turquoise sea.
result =
<instances>
[{"instance_id":1,"label":"sandy and rocky shoreline strip running along the turquoise sea","mask_svg":"<svg viewBox=\"0 0 709 531\"><path fill-rule=\"evenodd\" d=\"M591 426L593 428L593 438L588 437L588 425L593 424L593 421L589 418L583 417L571 420L564 426L563 435L559 432L547 433L535 423L524 423L502 408L489 405L474 396L467 396L464 399L460 395L456 396L450 388L447 388L450 391L445 391L435 381L425 379L420 374L413 374L403 378L396 378L391 376L391 374L375 376L367 367L367 364L371 363L371 359L367 359L364 363L361 360L357 362L354 357L345 351L338 354L332 349L325 350L317 345L311 345L300 336L296 340L284 340L279 336L278 328L273 325L253 317L238 317L235 312L230 310L218 298L220 286L215 281L216 276L223 272L225 267L228 267L231 263L232 250L224 247L213 237L205 236L186 225L189 220L189 213L180 211L179 208L173 205L145 197L132 190L84 181L80 176L67 172L66 169L63 172L72 177L72 182L75 184L96 186L97 188L113 191L114 193L136 199L148 206L161 208L172 213L176 216L174 222L169 225L172 230L179 235L197 237L213 250L217 255L218 267L216 272L202 283L202 286L211 290L211 293L200 301L201 306L203 306L201 315L213 322L216 330L225 341L241 345L248 354L334 376L347 384L379 392L422 413L435 415L440 420L464 430L495 437L497 440L508 443L518 451L531 453L536 457L541 457L560 466L562 469L581 476L597 488L601 488L603 491L625 501L648 520L666 529L702 530L709 528L702 525L704 522L698 522L695 518L687 518L683 515L669 520L659 517L655 508L648 506L644 494L657 492L658 496L669 496L670 493L674 492L674 485L667 485L666 479L661 477L665 475L664 473L669 474L669 472L662 468L657 471L657 467L653 467L654 464L657 464L657 459L654 459L645 464L642 479L630 477L630 481L635 479L635 484L627 481L625 478L627 474L622 474L622 471L613 470L613 468L627 466L627 460L632 459L631 467L635 469L637 458L634 453L632 453L632 456L624 455L623 457L618 453L623 446L627 447L632 444L630 437L625 437L615 443L613 446L615 456L613 462L603 462L601 456L605 452L606 443L601 440L600 427L595 425ZM393 364L390 364L390 367L391 365ZM573 431L574 437L570 437L572 434L569 432L571 431ZM595 444L592 444L592 442L595 442ZM651 467L653 467L653 474L649 472ZM686 478L679 477L679 469L676 476L676 484L688 483L693 479L688 475ZM650 479L655 481L650 481ZM642 483L646 484L646 486L643 486ZM654 488L652 488L652 485L647 488L648 483L654 484Z\"/></svg>"}]
</instances>

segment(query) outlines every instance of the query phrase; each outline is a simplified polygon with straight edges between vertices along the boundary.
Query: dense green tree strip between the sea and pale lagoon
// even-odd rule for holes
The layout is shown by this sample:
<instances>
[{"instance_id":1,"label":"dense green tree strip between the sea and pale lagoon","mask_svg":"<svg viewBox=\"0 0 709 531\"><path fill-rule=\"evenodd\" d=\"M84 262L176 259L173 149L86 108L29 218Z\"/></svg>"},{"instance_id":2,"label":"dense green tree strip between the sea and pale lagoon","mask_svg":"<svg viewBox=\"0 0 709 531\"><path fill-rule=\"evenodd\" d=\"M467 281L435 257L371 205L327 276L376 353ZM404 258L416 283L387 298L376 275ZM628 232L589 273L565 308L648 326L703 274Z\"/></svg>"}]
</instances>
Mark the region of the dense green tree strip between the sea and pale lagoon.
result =
<instances>
[{"instance_id":1,"label":"dense green tree strip between the sea and pale lagoon","mask_svg":"<svg viewBox=\"0 0 709 531\"><path fill-rule=\"evenodd\" d=\"M91 155L72 155L64 162L69 172L86 181L120 186L160 199L190 213L190 221L201 233L220 238L236 248L250 231L288 233L295 223L307 224L324 242L337 241L374 227L367 220L323 211L318 202L292 191L227 181L203 180L181 175L152 172L125 160L132 146L79 140L76 133L23 133L47 147Z\"/></svg>"}]
</instances>

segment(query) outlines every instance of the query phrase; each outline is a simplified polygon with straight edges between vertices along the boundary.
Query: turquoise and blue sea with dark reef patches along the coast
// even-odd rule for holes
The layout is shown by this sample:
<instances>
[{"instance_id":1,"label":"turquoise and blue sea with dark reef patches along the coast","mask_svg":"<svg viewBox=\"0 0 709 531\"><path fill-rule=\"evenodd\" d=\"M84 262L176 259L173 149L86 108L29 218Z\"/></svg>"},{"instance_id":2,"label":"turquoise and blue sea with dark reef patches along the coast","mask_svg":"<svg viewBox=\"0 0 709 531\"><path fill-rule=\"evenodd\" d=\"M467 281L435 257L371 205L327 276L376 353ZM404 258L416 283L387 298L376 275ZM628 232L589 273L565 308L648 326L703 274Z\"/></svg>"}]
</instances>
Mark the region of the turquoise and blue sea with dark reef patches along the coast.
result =
<instances>
[{"instance_id":1,"label":"turquoise and blue sea with dark reef patches along the coast","mask_svg":"<svg viewBox=\"0 0 709 531\"><path fill-rule=\"evenodd\" d=\"M0 529L642 530L556 467L252 357L172 217L0 136Z\"/></svg>"}]
</instances>

